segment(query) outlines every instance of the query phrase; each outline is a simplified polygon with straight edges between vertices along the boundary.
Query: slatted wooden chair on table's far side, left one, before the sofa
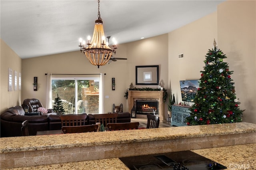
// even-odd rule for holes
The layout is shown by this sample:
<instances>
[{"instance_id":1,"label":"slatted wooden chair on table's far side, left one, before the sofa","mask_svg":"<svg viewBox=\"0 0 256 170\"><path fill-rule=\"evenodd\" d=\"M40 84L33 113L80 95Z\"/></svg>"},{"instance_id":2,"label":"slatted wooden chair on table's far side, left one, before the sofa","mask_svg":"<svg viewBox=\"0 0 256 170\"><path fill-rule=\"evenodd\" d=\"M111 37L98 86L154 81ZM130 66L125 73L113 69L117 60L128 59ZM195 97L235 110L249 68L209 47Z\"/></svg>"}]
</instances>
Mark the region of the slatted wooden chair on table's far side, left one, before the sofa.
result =
<instances>
[{"instance_id":1,"label":"slatted wooden chair on table's far side, left one, before the sofa","mask_svg":"<svg viewBox=\"0 0 256 170\"><path fill-rule=\"evenodd\" d=\"M61 126L82 126L86 125L85 120L86 120L87 114L78 114L78 115L61 115L60 120L61 120Z\"/></svg>"}]
</instances>

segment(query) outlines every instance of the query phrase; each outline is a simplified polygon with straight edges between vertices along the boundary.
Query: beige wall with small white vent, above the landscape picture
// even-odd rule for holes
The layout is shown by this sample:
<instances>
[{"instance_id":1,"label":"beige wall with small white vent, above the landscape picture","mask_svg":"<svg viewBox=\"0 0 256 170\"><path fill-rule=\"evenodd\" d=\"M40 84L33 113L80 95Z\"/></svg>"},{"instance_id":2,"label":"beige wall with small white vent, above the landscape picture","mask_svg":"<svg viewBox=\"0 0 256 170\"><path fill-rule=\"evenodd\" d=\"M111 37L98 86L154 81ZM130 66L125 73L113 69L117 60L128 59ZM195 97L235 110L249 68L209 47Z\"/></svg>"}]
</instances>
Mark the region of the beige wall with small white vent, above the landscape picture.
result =
<instances>
[{"instance_id":1,"label":"beige wall with small white vent, above the landscape picture","mask_svg":"<svg viewBox=\"0 0 256 170\"><path fill-rule=\"evenodd\" d=\"M205 55L213 48L214 38L217 40L216 12L169 33L168 82L176 102L181 101L180 80L200 79ZM180 53L184 53L184 58L178 58Z\"/></svg>"}]
</instances>

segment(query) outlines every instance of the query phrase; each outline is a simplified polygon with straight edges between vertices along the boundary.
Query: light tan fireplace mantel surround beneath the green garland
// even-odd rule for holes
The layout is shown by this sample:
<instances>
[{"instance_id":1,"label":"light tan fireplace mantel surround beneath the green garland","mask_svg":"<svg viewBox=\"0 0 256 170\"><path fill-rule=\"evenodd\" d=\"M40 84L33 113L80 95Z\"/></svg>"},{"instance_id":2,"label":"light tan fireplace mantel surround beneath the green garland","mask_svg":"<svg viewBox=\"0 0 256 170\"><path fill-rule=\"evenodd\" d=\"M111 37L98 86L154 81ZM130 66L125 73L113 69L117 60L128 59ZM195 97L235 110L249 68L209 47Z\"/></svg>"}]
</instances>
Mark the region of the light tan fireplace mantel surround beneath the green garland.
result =
<instances>
[{"instance_id":1,"label":"light tan fireplace mantel surround beneath the green garland","mask_svg":"<svg viewBox=\"0 0 256 170\"><path fill-rule=\"evenodd\" d=\"M159 119L160 122L165 121L164 117L164 102L163 102L164 91L137 91L137 90L129 90L128 91L128 105L129 111L132 110L134 106L134 99L156 99L159 102Z\"/></svg>"}]
</instances>

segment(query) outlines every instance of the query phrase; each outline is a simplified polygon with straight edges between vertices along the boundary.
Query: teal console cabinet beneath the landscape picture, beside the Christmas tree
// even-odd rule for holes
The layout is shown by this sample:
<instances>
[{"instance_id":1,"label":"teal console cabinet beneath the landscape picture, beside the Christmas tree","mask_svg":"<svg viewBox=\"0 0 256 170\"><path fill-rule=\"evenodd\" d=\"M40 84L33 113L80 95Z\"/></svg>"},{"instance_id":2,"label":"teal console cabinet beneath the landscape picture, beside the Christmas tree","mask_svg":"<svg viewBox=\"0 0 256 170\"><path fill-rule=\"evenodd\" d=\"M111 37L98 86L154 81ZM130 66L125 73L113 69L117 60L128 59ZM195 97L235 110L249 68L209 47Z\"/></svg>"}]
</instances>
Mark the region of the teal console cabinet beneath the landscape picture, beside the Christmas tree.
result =
<instances>
[{"instance_id":1,"label":"teal console cabinet beneath the landscape picture, beside the Christmas tree","mask_svg":"<svg viewBox=\"0 0 256 170\"><path fill-rule=\"evenodd\" d=\"M190 116L191 106L172 105L172 126L187 126L186 117Z\"/></svg>"}]
</instances>

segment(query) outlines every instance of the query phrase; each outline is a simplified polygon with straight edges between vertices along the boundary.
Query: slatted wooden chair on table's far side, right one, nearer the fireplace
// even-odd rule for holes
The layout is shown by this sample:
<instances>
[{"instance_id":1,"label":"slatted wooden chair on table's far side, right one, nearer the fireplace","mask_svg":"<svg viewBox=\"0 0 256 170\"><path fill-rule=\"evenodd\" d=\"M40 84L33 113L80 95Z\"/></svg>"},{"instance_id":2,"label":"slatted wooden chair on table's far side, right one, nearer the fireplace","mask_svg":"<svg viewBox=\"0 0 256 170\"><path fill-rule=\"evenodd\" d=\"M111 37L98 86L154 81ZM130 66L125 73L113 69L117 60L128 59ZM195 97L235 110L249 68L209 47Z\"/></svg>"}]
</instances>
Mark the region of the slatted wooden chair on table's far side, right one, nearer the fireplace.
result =
<instances>
[{"instance_id":1,"label":"slatted wooden chair on table's far side, right one, nearer the fireplace","mask_svg":"<svg viewBox=\"0 0 256 170\"><path fill-rule=\"evenodd\" d=\"M94 115L95 123L103 124L104 127L107 126L107 123L116 123L118 113L106 113L106 114L97 114Z\"/></svg>"}]
</instances>

